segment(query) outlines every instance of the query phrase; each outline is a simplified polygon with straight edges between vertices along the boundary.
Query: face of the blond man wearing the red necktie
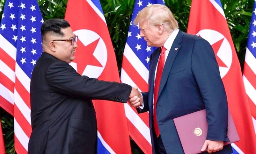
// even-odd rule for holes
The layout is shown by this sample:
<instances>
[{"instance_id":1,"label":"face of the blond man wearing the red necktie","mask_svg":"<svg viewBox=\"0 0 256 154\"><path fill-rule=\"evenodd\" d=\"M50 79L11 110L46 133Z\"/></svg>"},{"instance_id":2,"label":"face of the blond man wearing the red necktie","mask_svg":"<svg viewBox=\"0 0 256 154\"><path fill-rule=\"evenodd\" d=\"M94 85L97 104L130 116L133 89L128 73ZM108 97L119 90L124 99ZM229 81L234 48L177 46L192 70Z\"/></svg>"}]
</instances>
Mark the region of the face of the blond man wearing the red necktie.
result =
<instances>
[{"instance_id":1,"label":"face of the blond man wearing the red necktie","mask_svg":"<svg viewBox=\"0 0 256 154\"><path fill-rule=\"evenodd\" d=\"M140 36L144 37L144 40L147 42L148 46L160 47L159 46L159 27L148 25L147 21L139 23Z\"/></svg>"}]
</instances>

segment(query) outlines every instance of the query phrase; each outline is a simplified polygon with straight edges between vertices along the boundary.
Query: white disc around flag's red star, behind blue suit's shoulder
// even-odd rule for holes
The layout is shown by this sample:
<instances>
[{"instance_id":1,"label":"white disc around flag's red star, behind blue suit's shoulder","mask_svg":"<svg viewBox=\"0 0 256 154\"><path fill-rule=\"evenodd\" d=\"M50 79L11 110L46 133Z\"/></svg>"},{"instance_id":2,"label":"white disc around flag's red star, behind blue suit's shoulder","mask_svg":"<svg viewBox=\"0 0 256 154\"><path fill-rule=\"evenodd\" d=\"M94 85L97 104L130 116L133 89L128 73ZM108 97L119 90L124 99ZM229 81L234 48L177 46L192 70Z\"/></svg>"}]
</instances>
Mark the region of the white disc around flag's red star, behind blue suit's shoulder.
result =
<instances>
[{"instance_id":1,"label":"white disc around flag's red star, behind blue suit's shoulder","mask_svg":"<svg viewBox=\"0 0 256 154\"><path fill-rule=\"evenodd\" d=\"M214 43L224 38L219 48L219 51L217 51L217 54L216 54L216 56L218 56L221 59L221 61L227 66L227 67L219 66L221 78L223 78L228 73L230 66L232 64L232 49L231 49L230 43L228 42L228 40L225 38L223 34L211 29L203 29L199 31L196 35L204 38L211 45L213 45Z\"/></svg>"}]
</instances>

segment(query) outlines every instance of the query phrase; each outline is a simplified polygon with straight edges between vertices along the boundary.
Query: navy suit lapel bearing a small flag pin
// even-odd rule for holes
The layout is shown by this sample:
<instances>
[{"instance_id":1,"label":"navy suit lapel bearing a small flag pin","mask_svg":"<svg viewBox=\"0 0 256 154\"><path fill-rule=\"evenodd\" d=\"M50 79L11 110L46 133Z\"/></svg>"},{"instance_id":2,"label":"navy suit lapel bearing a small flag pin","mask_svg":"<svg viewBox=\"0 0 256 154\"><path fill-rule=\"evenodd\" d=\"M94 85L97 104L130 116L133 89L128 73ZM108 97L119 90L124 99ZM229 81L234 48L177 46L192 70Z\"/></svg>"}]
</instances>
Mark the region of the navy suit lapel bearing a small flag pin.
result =
<instances>
[{"instance_id":1,"label":"navy suit lapel bearing a small flag pin","mask_svg":"<svg viewBox=\"0 0 256 154\"><path fill-rule=\"evenodd\" d=\"M158 92L158 97L161 94L161 91L163 90L163 87L167 81L168 75L171 71L171 68L173 66L173 62L180 50L180 48L182 47L181 43L182 43L182 36L183 36L182 31L179 31L176 38L174 39L173 45L169 51L169 54L167 56L165 65L163 67L163 72L162 72L162 76L161 76L161 82L160 82L160 87L159 87L159 92Z\"/></svg>"}]
</instances>

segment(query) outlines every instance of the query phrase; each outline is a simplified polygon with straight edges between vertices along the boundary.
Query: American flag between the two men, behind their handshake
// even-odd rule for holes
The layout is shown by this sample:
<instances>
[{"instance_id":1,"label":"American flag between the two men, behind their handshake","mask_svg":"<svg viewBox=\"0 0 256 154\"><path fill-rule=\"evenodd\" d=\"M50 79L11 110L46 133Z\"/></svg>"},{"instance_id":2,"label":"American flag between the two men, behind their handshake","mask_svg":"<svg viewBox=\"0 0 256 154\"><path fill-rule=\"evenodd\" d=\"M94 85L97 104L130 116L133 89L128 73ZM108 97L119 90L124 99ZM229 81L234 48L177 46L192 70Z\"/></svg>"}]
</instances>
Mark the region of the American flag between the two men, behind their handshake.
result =
<instances>
[{"instance_id":1,"label":"American flag between the two men, behind their handshake","mask_svg":"<svg viewBox=\"0 0 256 154\"><path fill-rule=\"evenodd\" d=\"M137 86L142 92L148 91L149 57L156 48L147 46L139 36L139 27L132 25L132 22L140 10L152 4L164 4L164 0L135 0L122 61L121 82ZM148 113L137 114L128 103L124 104L124 109L130 136L143 152L151 154Z\"/></svg>"}]
</instances>

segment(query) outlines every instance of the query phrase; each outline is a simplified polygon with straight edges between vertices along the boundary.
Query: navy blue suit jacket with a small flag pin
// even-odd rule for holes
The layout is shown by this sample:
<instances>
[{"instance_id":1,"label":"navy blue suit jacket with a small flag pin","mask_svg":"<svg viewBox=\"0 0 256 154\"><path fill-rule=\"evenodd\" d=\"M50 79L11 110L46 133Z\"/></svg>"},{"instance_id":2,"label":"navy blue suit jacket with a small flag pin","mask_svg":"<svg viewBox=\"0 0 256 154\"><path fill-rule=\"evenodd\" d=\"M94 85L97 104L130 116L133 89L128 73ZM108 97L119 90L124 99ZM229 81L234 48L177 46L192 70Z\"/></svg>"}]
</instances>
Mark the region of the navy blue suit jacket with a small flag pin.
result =
<instances>
[{"instance_id":1,"label":"navy blue suit jacket with a small flag pin","mask_svg":"<svg viewBox=\"0 0 256 154\"><path fill-rule=\"evenodd\" d=\"M154 152L153 94L160 48L150 56L148 86L143 93L144 108L149 111L150 135ZM211 45L203 38L178 32L167 56L157 100L157 121L167 154L183 154L173 118L206 109L207 140L228 141L227 99ZM225 152L224 152L225 151ZM230 145L219 153L231 153Z\"/></svg>"}]
</instances>

